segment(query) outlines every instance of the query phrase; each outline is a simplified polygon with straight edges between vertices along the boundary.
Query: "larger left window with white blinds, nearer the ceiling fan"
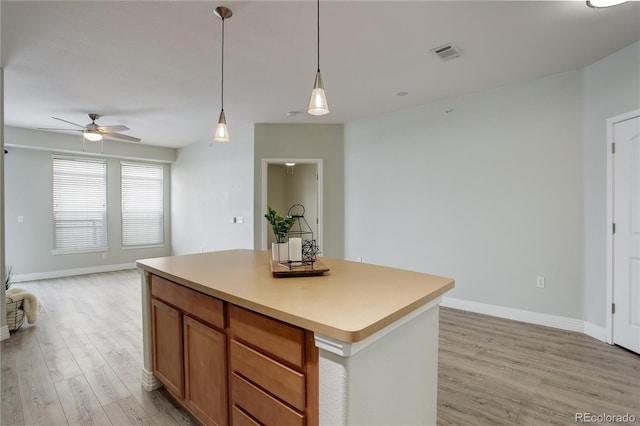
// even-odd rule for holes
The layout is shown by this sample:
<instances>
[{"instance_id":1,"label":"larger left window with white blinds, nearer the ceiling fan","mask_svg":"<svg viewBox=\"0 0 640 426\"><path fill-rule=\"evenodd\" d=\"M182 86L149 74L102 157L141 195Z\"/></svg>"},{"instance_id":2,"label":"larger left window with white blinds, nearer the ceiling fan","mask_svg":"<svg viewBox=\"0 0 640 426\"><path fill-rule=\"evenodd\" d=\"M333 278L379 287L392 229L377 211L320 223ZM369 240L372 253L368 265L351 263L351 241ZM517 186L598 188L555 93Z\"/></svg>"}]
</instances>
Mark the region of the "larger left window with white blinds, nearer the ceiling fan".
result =
<instances>
[{"instance_id":1,"label":"larger left window with white blinds, nearer the ceiling fan","mask_svg":"<svg viewBox=\"0 0 640 426\"><path fill-rule=\"evenodd\" d=\"M53 157L54 253L107 250L107 162Z\"/></svg>"}]
</instances>

